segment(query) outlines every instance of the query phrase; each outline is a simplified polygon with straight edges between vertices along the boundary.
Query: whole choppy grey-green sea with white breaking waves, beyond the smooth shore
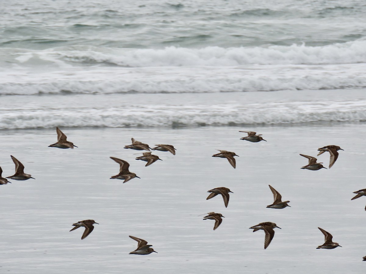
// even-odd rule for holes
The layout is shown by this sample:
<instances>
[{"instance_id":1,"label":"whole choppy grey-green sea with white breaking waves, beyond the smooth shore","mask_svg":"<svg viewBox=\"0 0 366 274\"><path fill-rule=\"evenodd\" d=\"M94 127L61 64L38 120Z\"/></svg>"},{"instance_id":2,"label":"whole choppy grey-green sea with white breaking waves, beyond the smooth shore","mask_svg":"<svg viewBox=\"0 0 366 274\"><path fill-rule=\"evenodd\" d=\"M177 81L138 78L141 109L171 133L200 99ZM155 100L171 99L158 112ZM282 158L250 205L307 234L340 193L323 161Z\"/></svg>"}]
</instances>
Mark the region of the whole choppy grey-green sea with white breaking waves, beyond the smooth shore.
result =
<instances>
[{"instance_id":1,"label":"whole choppy grey-green sea with white breaking waves, beyond the smooth shore","mask_svg":"<svg viewBox=\"0 0 366 274\"><path fill-rule=\"evenodd\" d=\"M363 1L12 1L0 129L364 121L365 12Z\"/></svg>"}]
</instances>

